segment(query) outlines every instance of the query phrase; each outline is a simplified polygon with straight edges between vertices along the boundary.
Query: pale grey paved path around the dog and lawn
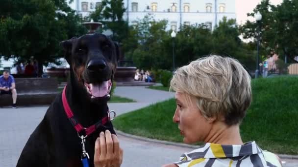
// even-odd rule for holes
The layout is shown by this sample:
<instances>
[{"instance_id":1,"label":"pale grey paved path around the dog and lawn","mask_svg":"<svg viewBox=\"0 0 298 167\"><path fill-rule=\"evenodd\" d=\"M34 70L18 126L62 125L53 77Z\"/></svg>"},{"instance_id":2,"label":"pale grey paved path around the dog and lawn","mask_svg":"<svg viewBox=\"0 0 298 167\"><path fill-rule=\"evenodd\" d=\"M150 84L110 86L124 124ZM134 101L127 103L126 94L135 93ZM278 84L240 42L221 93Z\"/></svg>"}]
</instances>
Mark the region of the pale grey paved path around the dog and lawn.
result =
<instances>
[{"instance_id":1,"label":"pale grey paved path around the dog and lawn","mask_svg":"<svg viewBox=\"0 0 298 167\"><path fill-rule=\"evenodd\" d=\"M115 94L131 98L137 103L109 104L117 114L123 114L149 104L174 97L173 93L144 87L117 87ZM29 135L40 123L48 106L0 108L0 167L15 167ZM177 161L180 154L191 150L178 146L166 146L119 136L124 149L122 167L160 167ZM298 167L294 160L283 160L284 167Z\"/></svg>"}]
</instances>

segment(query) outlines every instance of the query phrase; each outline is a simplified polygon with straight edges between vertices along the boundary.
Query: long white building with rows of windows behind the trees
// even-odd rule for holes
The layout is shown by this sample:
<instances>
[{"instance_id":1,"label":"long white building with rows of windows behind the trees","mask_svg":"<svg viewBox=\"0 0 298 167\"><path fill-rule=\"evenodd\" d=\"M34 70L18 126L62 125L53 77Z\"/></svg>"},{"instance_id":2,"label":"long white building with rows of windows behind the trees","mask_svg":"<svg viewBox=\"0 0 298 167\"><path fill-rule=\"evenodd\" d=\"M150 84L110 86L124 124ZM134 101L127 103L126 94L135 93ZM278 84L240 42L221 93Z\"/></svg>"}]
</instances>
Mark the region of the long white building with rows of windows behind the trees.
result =
<instances>
[{"instance_id":1,"label":"long white building with rows of windows behind the trees","mask_svg":"<svg viewBox=\"0 0 298 167\"><path fill-rule=\"evenodd\" d=\"M74 0L69 5L85 17L100 3L101 0ZM150 13L156 21L168 20L168 29L174 30L182 24L196 23L205 23L213 29L224 16L236 19L235 0L124 0L124 7L124 19L129 24Z\"/></svg>"}]
</instances>

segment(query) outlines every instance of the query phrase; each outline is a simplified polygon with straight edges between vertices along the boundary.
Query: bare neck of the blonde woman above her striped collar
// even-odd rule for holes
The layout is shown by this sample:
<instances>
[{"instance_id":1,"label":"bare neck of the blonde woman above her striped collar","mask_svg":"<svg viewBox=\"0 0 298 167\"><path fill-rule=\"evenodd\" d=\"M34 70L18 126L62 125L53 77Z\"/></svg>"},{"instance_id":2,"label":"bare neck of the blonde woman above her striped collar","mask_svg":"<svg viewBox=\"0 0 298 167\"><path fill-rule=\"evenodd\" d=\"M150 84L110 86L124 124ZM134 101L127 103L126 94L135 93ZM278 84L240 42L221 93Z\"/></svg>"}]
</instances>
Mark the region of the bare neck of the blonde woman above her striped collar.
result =
<instances>
[{"instance_id":1,"label":"bare neck of the blonde woman above her striped collar","mask_svg":"<svg viewBox=\"0 0 298 167\"><path fill-rule=\"evenodd\" d=\"M220 145L243 145L239 125L228 126L221 121L217 121L212 125L212 128L209 134L205 137L204 142Z\"/></svg>"}]
</instances>

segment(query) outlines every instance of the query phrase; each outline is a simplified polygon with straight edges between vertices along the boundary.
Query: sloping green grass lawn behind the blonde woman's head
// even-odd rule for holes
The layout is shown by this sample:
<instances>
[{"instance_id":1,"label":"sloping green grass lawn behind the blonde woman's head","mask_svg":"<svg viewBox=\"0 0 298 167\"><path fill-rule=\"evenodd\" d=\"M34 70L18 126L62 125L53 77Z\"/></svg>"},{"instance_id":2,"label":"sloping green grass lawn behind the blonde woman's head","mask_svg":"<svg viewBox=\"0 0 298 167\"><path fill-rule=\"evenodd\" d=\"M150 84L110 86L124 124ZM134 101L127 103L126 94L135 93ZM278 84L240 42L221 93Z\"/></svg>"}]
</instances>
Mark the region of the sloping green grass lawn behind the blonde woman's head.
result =
<instances>
[{"instance_id":1,"label":"sloping green grass lawn behind the blonde woman's head","mask_svg":"<svg viewBox=\"0 0 298 167\"><path fill-rule=\"evenodd\" d=\"M252 81L253 100L241 125L244 142L256 141L264 150L298 154L298 77ZM182 142L172 122L174 99L118 116L118 130L149 138Z\"/></svg>"}]
</instances>

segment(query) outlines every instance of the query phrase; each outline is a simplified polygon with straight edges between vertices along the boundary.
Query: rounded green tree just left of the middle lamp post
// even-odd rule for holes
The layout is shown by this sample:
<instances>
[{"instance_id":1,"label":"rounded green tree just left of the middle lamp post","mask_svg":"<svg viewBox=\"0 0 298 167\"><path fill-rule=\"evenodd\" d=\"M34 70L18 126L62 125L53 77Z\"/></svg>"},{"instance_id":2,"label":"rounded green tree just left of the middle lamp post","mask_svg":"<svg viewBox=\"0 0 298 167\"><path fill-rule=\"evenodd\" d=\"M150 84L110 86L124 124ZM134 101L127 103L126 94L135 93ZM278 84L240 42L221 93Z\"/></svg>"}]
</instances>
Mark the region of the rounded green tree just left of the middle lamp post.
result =
<instances>
[{"instance_id":1,"label":"rounded green tree just left of the middle lamp post","mask_svg":"<svg viewBox=\"0 0 298 167\"><path fill-rule=\"evenodd\" d=\"M144 69L170 68L172 52L167 52L167 43L171 37L166 26L167 21L155 21L151 15L130 26L129 36L123 41L125 57Z\"/></svg>"}]
</instances>

